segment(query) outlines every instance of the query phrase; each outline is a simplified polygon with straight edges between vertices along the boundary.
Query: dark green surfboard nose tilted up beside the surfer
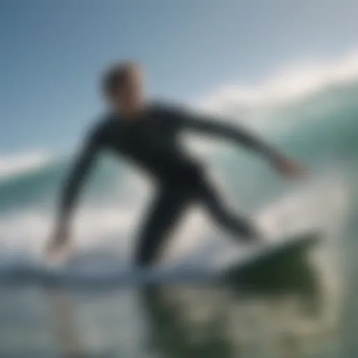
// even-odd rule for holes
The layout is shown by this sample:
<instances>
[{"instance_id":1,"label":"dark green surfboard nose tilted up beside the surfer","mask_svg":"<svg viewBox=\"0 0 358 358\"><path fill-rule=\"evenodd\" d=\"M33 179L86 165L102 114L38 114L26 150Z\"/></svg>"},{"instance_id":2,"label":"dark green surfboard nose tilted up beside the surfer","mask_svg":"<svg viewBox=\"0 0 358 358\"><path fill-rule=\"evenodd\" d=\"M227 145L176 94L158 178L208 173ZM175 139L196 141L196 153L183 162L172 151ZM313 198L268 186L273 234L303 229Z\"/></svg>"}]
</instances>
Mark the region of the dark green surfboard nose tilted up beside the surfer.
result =
<instances>
[{"instance_id":1,"label":"dark green surfboard nose tilted up beside the surfer","mask_svg":"<svg viewBox=\"0 0 358 358\"><path fill-rule=\"evenodd\" d=\"M280 242L270 243L238 264L229 264L221 271L223 280L234 280L243 284L262 284L268 280L281 280L292 275L308 258L308 253L322 238L318 232L297 234Z\"/></svg>"}]
</instances>

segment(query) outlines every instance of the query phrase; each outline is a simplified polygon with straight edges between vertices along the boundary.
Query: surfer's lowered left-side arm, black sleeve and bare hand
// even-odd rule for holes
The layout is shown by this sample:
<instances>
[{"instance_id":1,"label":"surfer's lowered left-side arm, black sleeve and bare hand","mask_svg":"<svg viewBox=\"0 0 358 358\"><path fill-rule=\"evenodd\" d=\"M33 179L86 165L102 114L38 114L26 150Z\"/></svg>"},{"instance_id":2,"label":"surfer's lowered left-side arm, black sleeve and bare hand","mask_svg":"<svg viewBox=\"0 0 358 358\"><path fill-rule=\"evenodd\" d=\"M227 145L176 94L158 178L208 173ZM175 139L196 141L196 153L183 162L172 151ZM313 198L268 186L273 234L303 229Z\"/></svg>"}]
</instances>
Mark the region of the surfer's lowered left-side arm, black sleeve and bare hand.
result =
<instances>
[{"instance_id":1,"label":"surfer's lowered left-side arm, black sleeve and bare hand","mask_svg":"<svg viewBox=\"0 0 358 358\"><path fill-rule=\"evenodd\" d=\"M73 164L69 178L66 180L60 197L59 213L55 226L55 233L48 247L50 255L55 253L69 240L68 222L76 204L80 189L82 189L87 174L90 172L94 157L99 149L97 136L91 136L85 141L83 149Z\"/></svg>"}]
</instances>

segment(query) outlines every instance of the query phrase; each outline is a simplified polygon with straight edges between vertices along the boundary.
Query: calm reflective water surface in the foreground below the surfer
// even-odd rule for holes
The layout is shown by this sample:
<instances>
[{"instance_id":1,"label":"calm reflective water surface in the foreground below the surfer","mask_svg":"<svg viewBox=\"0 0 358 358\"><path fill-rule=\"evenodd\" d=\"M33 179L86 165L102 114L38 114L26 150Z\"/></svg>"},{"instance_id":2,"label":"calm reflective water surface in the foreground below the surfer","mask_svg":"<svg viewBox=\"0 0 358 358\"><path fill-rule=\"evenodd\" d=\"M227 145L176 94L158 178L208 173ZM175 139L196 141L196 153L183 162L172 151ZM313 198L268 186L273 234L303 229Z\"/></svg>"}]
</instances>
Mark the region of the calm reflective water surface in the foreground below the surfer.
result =
<instances>
[{"instance_id":1,"label":"calm reflective water surface in the foreground below the surfer","mask_svg":"<svg viewBox=\"0 0 358 358\"><path fill-rule=\"evenodd\" d=\"M341 357L337 307L302 258L216 285L0 293L1 357Z\"/></svg>"}]
</instances>

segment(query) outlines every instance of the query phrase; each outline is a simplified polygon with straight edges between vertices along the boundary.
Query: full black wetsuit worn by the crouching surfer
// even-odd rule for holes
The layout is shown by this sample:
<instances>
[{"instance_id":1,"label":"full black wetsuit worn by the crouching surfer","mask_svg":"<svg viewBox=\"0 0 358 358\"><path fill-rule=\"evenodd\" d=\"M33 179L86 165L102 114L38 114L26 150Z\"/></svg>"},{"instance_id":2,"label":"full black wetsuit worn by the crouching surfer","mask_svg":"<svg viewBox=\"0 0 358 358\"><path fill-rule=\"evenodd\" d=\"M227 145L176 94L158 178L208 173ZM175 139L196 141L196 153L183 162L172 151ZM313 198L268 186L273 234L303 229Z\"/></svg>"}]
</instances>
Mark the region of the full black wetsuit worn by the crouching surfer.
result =
<instances>
[{"instance_id":1,"label":"full black wetsuit worn by the crouching surfer","mask_svg":"<svg viewBox=\"0 0 358 358\"><path fill-rule=\"evenodd\" d=\"M136 264L145 266L155 261L169 231L193 201L203 203L214 220L231 234L246 238L255 236L250 222L225 208L206 179L201 164L185 153L178 138L180 131L185 129L222 136L269 159L275 156L274 150L236 126L178 108L150 105L141 116L130 120L116 114L107 115L91 131L74 166L62 198L61 220L69 215L94 156L99 151L109 150L141 166L159 188L141 228Z\"/></svg>"}]
</instances>

